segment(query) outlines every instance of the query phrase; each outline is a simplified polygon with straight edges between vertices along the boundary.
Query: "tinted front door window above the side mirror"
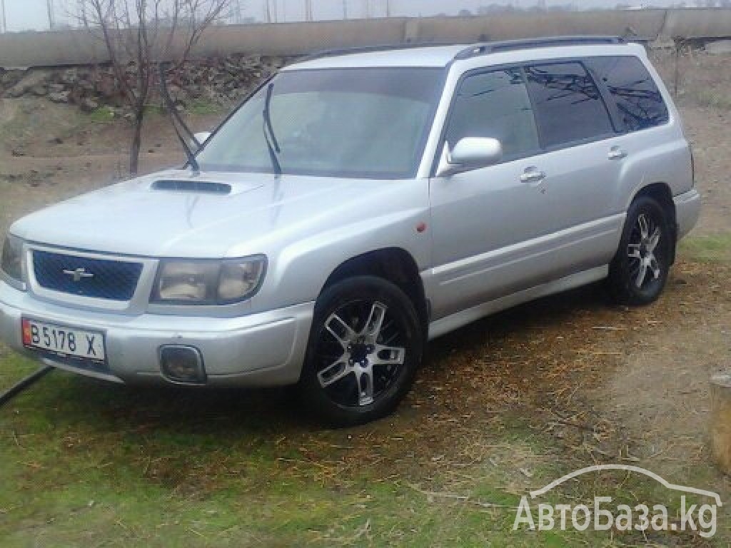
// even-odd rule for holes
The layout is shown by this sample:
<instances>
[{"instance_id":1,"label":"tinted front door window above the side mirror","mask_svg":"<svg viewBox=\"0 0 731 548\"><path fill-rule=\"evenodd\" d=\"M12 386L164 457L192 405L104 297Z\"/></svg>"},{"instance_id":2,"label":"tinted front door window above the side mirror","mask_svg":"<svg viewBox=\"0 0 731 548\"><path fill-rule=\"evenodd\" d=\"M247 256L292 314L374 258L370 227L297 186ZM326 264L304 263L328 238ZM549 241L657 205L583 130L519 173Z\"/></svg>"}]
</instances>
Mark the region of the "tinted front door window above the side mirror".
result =
<instances>
[{"instance_id":1,"label":"tinted front door window above the side mirror","mask_svg":"<svg viewBox=\"0 0 731 548\"><path fill-rule=\"evenodd\" d=\"M531 102L520 69L504 69L466 77L452 109L447 142L463 137L493 137L505 158L539 150Z\"/></svg>"}]
</instances>

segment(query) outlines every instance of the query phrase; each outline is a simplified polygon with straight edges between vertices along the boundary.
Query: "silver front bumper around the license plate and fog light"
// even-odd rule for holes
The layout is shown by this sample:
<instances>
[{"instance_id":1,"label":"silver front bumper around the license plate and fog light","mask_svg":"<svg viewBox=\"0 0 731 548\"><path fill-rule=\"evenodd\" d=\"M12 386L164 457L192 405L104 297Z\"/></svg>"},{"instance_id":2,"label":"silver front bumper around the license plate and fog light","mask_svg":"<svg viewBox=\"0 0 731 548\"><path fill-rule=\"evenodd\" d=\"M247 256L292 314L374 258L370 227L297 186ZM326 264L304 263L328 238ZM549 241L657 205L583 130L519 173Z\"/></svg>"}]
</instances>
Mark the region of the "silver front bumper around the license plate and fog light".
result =
<instances>
[{"instance_id":1,"label":"silver front bumper around the license plate and fog light","mask_svg":"<svg viewBox=\"0 0 731 548\"><path fill-rule=\"evenodd\" d=\"M306 302L238 318L124 316L44 302L0 281L0 338L5 343L60 369L116 382L164 381L160 347L186 345L200 350L208 384L293 384L300 378L313 311L314 302ZM106 364L91 366L26 349L21 316L104 332Z\"/></svg>"}]
</instances>

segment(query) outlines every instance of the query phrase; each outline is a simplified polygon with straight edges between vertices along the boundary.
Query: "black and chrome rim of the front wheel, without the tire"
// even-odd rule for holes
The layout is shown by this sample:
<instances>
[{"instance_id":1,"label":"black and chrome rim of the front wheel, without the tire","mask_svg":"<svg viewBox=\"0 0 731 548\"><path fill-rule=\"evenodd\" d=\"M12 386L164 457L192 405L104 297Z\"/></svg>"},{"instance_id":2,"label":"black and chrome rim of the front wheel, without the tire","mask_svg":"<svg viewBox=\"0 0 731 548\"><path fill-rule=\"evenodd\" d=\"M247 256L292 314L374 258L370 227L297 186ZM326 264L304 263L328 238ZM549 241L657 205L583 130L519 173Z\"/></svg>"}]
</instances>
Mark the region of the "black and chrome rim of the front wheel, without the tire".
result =
<instances>
[{"instance_id":1,"label":"black and chrome rim of the front wheel, without the tire","mask_svg":"<svg viewBox=\"0 0 731 548\"><path fill-rule=\"evenodd\" d=\"M314 355L317 381L341 406L375 403L404 368L408 330L383 302L354 300L325 319Z\"/></svg>"}]
</instances>

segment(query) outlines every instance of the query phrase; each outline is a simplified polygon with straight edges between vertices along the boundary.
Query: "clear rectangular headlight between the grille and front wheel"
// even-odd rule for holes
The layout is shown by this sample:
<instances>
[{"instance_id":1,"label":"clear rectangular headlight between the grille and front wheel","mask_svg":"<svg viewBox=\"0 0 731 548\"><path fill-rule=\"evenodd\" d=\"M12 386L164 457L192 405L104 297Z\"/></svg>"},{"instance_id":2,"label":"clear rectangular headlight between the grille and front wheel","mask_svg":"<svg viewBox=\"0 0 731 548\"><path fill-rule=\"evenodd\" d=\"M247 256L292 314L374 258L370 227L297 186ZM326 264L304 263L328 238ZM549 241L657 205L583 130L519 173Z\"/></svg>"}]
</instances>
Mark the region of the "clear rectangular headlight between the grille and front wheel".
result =
<instances>
[{"instance_id":1,"label":"clear rectangular headlight between the grille and front wheel","mask_svg":"<svg viewBox=\"0 0 731 548\"><path fill-rule=\"evenodd\" d=\"M253 296L261 285L267 260L162 261L151 301L179 305L227 305Z\"/></svg>"}]
</instances>

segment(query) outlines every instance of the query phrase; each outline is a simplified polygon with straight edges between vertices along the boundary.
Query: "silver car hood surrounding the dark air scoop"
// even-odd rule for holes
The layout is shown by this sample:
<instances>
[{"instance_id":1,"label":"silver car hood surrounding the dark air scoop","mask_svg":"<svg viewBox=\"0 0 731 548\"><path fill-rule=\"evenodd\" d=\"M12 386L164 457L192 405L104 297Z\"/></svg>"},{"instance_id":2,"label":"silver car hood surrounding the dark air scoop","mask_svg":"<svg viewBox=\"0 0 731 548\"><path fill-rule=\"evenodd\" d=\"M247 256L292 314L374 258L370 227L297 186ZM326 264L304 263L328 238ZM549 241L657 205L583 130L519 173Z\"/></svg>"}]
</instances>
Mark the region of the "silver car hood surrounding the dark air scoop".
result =
<instances>
[{"instance_id":1,"label":"silver car hood surrounding the dark air scoop","mask_svg":"<svg viewBox=\"0 0 731 548\"><path fill-rule=\"evenodd\" d=\"M156 189L204 181L229 194ZM306 237L347 218L359 199L397 181L170 170L83 194L21 218L11 232L35 243L153 257L223 258L268 251L271 240ZM220 187L219 187L220 188ZM379 200L384 202L384 200ZM387 203L387 199L385 200ZM338 215L338 213L340 215ZM321 225L321 226L318 226Z\"/></svg>"}]
</instances>

